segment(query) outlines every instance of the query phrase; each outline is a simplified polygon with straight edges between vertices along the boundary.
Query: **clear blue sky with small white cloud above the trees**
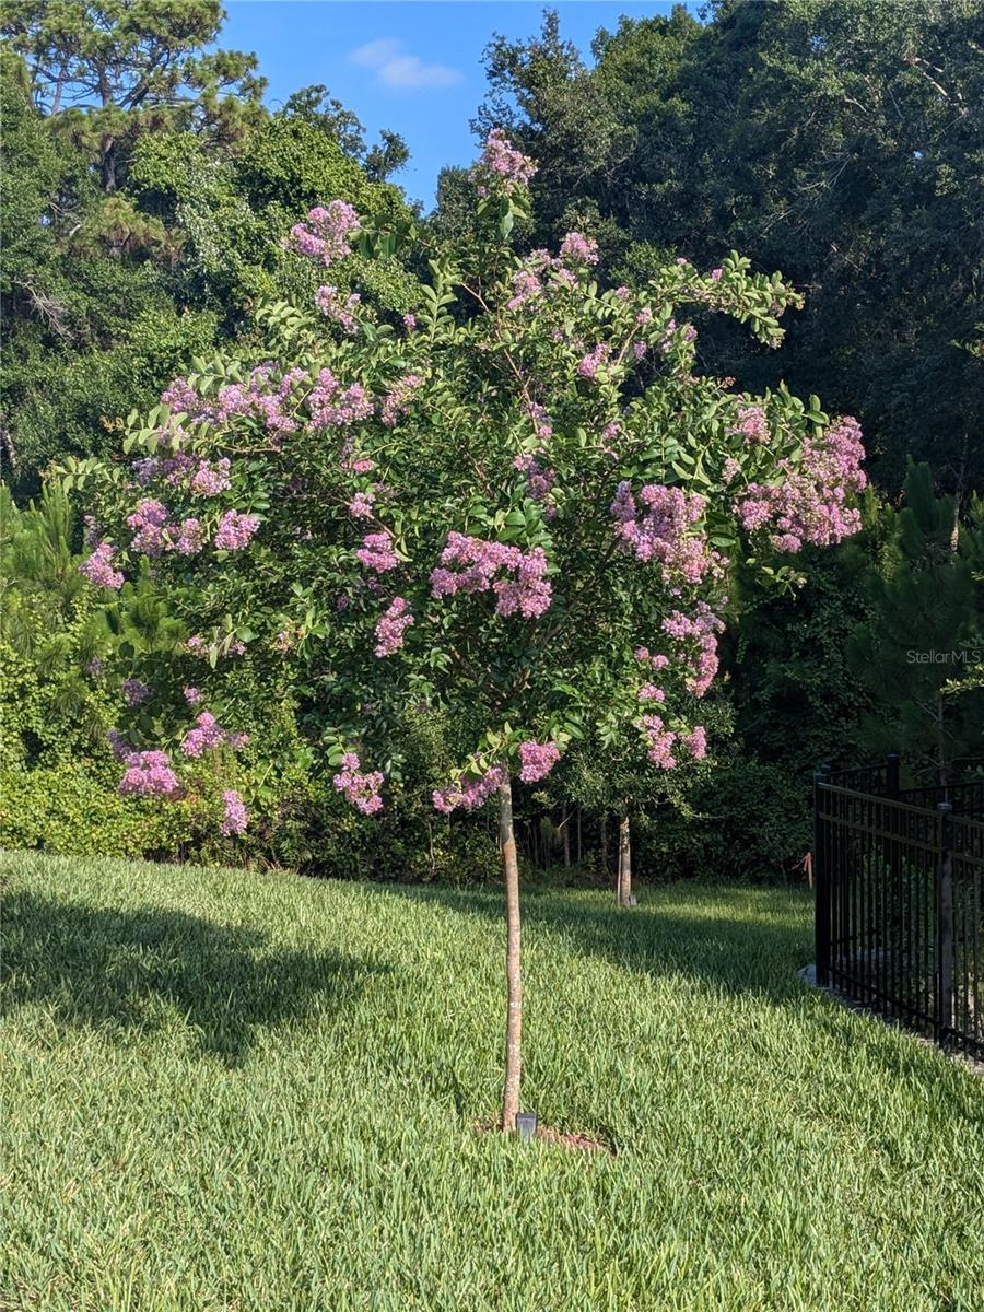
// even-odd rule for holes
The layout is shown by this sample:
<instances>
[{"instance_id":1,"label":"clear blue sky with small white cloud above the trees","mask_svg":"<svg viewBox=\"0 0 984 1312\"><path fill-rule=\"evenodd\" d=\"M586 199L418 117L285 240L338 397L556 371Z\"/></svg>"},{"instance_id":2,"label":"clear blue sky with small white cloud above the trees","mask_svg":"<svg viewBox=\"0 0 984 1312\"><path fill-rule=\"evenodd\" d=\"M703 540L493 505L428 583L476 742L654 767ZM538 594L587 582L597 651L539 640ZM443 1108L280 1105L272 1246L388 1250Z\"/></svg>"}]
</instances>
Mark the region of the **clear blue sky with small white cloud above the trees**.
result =
<instances>
[{"instance_id":1,"label":"clear blue sky with small white cloud above the trees","mask_svg":"<svg viewBox=\"0 0 984 1312\"><path fill-rule=\"evenodd\" d=\"M621 14L669 13L647 0L560 0L562 35L586 59L598 28ZM495 31L539 30L541 0L227 0L219 37L251 50L269 80L273 108L299 87L324 83L353 109L373 140L380 127L400 133L411 161L396 176L412 199L430 207L445 164L468 164L475 143L468 119L485 92L482 52Z\"/></svg>"}]
</instances>

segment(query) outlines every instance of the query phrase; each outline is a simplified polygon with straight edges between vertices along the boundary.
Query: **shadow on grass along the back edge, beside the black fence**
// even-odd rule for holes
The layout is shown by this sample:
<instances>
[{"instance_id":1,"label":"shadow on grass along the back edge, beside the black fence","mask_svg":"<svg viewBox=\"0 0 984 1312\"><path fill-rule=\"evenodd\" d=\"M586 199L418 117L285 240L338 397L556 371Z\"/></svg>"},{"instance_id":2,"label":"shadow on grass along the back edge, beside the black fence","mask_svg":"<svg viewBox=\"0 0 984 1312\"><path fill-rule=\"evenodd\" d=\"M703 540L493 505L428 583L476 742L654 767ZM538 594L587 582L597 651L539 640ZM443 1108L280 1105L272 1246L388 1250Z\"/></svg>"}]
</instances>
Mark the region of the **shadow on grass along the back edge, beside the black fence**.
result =
<instances>
[{"instance_id":1,"label":"shadow on grass along the back edge, beside the black fence","mask_svg":"<svg viewBox=\"0 0 984 1312\"><path fill-rule=\"evenodd\" d=\"M430 901L464 916L504 924L501 897L492 892L404 884L370 884L390 895ZM743 890L743 892L748 892ZM752 891L754 892L754 891ZM523 925L560 935L577 953L647 975L684 975L728 993L756 993L787 1002L802 994L796 971L810 959L811 932L802 921L769 908L761 917L736 908L722 912L722 890L687 888L687 908L661 891L647 892L634 911L598 905L597 897L529 890L522 897ZM701 911L706 896L707 913ZM505 935L505 929L502 929Z\"/></svg>"}]
</instances>

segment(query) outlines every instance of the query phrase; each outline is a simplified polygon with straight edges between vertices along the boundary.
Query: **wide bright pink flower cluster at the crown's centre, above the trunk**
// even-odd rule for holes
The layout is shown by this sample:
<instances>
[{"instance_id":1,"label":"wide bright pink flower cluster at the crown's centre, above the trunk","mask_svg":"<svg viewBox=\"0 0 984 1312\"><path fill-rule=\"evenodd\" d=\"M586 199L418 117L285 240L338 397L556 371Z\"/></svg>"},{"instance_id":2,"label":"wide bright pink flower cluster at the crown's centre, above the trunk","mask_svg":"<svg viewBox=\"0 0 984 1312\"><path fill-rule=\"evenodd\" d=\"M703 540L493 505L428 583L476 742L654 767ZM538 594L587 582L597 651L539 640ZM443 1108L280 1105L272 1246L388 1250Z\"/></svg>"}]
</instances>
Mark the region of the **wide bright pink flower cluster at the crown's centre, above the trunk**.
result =
<instances>
[{"instance_id":1,"label":"wide bright pink flower cluster at the crown's centre, above the trunk","mask_svg":"<svg viewBox=\"0 0 984 1312\"><path fill-rule=\"evenodd\" d=\"M493 581L500 569L514 577ZM434 597L453 597L459 592L488 592L491 588L499 598L497 615L518 611L525 619L535 619L548 609L552 597L546 572L547 556L542 547L523 552L501 542L450 533L441 564L430 573L430 592Z\"/></svg>"}]
</instances>

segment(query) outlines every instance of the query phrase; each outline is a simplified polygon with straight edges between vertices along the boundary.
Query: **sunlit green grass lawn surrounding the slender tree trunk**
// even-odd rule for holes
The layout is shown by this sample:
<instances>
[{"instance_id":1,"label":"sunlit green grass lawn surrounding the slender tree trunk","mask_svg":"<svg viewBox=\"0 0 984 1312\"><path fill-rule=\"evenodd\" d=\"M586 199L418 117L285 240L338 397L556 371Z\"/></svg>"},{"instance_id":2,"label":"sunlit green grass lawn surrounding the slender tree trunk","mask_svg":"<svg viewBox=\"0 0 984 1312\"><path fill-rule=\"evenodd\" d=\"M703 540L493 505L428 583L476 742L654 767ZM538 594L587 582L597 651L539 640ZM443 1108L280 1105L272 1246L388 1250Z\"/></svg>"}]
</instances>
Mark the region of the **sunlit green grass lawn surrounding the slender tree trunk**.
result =
<instances>
[{"instance_id":1,"label":"sunlit green grass lawn surrounding the slender tree trunk","mask_svg":"<svg viewBox=\"0 0 984 1312\"><path fill-rule=\"evenodd\" d=\"M7 854L0 1308L984 1307L984 1082L807 991L799 892L526 896Z\"/></svg>"}]
</instances>

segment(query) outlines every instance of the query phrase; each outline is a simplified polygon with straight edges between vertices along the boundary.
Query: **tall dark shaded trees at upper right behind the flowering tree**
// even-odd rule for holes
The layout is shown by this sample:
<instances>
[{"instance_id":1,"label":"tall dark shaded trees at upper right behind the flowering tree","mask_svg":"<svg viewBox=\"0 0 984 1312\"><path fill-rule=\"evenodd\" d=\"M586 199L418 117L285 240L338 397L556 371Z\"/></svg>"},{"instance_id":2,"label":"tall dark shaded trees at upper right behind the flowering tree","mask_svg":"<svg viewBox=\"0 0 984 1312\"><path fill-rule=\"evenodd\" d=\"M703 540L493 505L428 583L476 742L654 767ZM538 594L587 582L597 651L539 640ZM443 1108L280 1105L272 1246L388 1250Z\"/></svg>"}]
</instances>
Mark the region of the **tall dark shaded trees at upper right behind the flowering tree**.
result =
<instances>
[{"instance_id":1,"label":"tall dark shaded trees at upper right behind the flowering tree","mask_svg":"<svg viewBox=\"0 0 984 1312\"><path fill-rule=\"evenodd\" d=\"M729 333L708 367L781 369L858 415L883 487L908 455L958 496L984 485L980 359L962 348L984 331L984 8L712 0L705 17L622 18L590 68L555 13L491 43L478 122L541 160L531 244L579 224L614 269L665 248L782 269L807 298L782 359Z\"/></svg>"}]
</instances>

